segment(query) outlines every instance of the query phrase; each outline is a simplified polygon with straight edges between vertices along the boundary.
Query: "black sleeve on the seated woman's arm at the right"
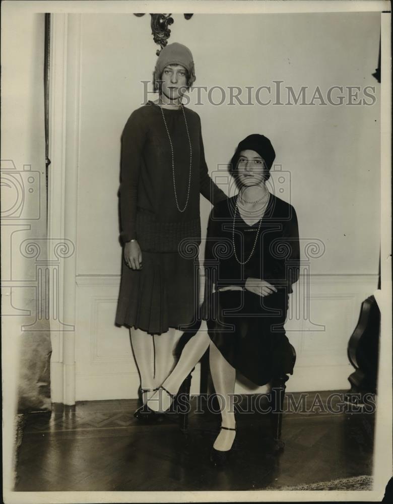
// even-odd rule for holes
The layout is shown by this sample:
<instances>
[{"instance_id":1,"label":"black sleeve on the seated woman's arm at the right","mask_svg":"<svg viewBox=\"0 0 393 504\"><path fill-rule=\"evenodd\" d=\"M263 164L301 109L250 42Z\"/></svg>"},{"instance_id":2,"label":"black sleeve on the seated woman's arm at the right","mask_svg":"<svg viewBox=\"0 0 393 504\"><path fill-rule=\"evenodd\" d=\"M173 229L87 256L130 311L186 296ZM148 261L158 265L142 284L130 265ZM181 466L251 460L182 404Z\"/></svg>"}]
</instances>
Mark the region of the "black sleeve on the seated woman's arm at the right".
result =
<instances>
[{"instance_id":1,"label":"black sleeve on the seated woman's arm at the right","mask_svg":"<svg viewBox=\"0 0 393 504\"><path fill-rule=\"evenodd\" d=\"M272 248L272 267L267 271L275 287L289 287L292 292L292 284L298 281L300 271L300 244L299 228L295 209L290 207L290 218L283 221L282 236ZM275 257L276 256L276 257ZM266 280L269 281L269 278Z\"/></svg>"}]
</instances>

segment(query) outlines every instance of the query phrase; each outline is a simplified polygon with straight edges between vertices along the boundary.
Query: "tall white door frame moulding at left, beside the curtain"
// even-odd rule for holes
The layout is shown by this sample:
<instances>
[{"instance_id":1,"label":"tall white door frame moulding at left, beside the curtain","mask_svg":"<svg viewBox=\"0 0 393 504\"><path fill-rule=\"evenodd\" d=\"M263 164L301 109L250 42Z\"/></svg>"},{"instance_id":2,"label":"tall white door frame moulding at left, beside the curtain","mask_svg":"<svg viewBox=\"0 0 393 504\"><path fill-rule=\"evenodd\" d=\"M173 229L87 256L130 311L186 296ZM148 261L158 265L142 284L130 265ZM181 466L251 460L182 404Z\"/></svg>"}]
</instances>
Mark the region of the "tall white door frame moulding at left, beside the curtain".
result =
<instances>
[{"instance_id":1,"label":"tall white door frame moulding at left, beside the curtain","mask_svg":"<svg viewBox=\"0 0 393 504\"><path fill-rule=\"evenodd\" d=\"M50 293L51 399L75 404L77 191L81 15L51 14L48 258L57 267Z\"/></svg>"}]
</instances>

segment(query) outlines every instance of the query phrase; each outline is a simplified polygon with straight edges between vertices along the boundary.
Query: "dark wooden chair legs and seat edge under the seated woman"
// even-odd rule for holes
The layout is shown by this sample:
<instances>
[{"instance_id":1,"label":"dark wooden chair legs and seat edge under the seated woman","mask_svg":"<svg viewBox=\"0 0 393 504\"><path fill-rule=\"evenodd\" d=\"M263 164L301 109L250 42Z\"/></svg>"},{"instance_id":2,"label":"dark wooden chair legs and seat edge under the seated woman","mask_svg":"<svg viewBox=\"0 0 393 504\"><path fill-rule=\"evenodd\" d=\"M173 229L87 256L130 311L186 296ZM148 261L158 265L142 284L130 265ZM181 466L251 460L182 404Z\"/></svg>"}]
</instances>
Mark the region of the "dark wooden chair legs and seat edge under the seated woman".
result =
<instances>
[{"instance_id":1,"label":"dark wooden chair legs and seat edge under the seated woman","mask_svg":"<svg viewBox=\"0 0 393 504\"><path fill-rule=\"evenodd\" d=\"M188 341L188 338L187 338ZM184 342L183 342L184 343ZM180 345L182 348L184 345ZM295 366L296 362L296 351L291 345L292 350L292 363ZM192 371L188 374L186 379L183 381L180 389L179 396L181 395L181 405L178 407L177 412L179 415L179 427L180 430L185 433L188 430L188 413L190 411L190 387L192 379ZM293 374L293 373L288 373ZM285 443L281 440L281 430L283 421L283 407L284 407L284 397L286 383L289 380L288 374L282 374L280 376L273 377L271 381L271 389L269 393L269 400L271 410L271 425L272 434L274 440L274 449L282 450ZM200 393L204 394L204 397L208 396L208 382L209 382L209 351L201 359L201 389Z\"/></svg>"}]
</instances>

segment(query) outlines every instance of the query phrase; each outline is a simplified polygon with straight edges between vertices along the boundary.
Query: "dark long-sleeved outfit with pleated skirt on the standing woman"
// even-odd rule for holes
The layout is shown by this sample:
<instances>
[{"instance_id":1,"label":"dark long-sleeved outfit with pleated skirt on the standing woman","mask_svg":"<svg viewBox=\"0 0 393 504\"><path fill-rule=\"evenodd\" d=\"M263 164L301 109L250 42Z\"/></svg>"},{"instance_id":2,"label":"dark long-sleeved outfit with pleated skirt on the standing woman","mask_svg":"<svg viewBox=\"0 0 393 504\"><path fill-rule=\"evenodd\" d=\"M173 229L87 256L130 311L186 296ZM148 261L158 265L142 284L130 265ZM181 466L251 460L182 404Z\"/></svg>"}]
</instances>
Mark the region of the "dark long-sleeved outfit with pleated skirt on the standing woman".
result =
<instances>
[{"instance_id":1,"label":"dark long-sleeved outfit with pleated skirt on the standing woman","mask_svg":"<svg viewBox=\"0 0 393 504\"><path fill-rule=\"evenodd\" d=\"M161 334L190 324L200 304L198 247L200 193L212 203L226 199L205 161L199 115L184 108L192 148L188 204L174 196L170 143L158 105L149 102L127 120L121 141L120 220L123 243L135 238L142 270L122 261L115 323ZM181 109L163 109L174 153L177 200L184 208L190 148ZM182 253L179 253L179 247Z\"/></svg>"}]
</instances>

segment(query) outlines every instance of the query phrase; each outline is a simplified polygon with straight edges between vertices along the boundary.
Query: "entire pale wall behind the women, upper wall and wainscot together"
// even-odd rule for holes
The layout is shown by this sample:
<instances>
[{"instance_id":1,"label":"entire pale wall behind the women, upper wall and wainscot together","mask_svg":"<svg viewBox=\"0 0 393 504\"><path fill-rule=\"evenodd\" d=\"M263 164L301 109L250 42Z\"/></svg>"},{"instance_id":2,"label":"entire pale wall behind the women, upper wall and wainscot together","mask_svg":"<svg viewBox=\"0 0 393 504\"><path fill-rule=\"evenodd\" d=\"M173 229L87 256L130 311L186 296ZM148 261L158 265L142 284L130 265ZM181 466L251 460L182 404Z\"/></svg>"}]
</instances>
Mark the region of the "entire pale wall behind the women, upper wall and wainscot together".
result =
<instances>
[{"instance_id":1,"label":"entire pale wall behind the women, upper wall and wainscot together","mask_svg":"<svg viewBox=\"0 0 393 504\"><path fill-rule=\"evenodd\" d=\"M316 86L326 94L333 85L371 85L379 95L371 76L378 58L378 14L198 14L188 21L174 15L174 20L170 42L191 48L195 85L258 87L282 80L296 91L308 86L311 96ZM78 76L65 90L75 121L75 138L65 148L77 153L78 171L77 399L135 397L138 373L128 333L113 325L121 266L120 135L143 100L141 81L152 75L157 46L148 15L71 15L68 30L76 51L68 57ZM352 107L190 106L202 119L212 173L246 135L263 133L272 140L275 163L291 177L290 191L277 194L295 206L301 237L319 239L326 247L322 257L310 261L308 290L299 284L292 296L300 307L309 299L311 321L294 312L286 326L298 353L289 388L347 388L352 372L347 343L360 302L377 281L378 101ZM209 211L202 200L203 232ZM193 390L198 390L195 382Z\"/></svg>"}]
</instances>

